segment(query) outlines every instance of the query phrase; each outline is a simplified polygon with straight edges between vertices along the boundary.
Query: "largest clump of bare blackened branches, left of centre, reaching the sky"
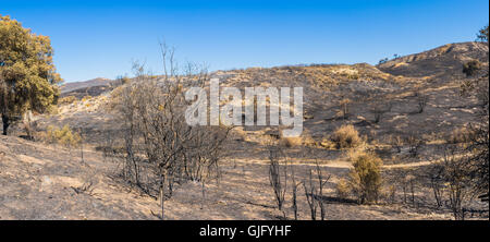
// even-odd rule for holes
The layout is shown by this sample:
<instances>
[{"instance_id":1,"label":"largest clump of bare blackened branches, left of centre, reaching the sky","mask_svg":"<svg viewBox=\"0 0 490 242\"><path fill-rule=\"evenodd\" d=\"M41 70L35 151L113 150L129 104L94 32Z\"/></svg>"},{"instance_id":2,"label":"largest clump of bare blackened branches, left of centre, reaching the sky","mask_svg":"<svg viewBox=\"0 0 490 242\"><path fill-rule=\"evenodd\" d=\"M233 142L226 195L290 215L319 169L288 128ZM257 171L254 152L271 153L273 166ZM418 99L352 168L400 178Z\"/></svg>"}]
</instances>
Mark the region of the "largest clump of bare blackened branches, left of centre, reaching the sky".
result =
<instances>
[{"instance_id":1,"label":"largest clump of bare blackened branches, left of centre, reaching the sky","mask_svg":"<svg viewBox=\"0 0 490 242\"><path fill-rule=\"evenodd\" d=\"M195 64L179 69L174 50L164 44L161 52L163 75L135 64L135 77L114 93L114 110L124 122L123 177L160 201L163 219L164 201L175 184L201 182L205 196L206 182L219 177L218 162L231 128L187 125L185 90L204 86L209 76Z\"/></svg>"}]
</instances>

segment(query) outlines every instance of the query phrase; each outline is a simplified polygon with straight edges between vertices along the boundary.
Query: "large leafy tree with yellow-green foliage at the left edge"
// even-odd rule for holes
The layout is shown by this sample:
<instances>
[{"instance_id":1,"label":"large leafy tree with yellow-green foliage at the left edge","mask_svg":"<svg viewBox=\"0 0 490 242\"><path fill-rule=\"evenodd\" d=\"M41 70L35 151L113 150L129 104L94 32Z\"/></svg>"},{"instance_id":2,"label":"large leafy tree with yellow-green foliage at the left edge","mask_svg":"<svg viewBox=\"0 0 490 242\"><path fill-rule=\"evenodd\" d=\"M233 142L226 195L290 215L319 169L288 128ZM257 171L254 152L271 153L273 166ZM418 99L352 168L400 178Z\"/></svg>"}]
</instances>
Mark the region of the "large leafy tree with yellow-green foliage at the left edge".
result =
<instances>
[{"instance_id":1,"label":"large leafy tree with yellow-green foliage at the left edge","mask_svg":"<svg viewBox=\"0 0 490 242\"><path fill-rule=\"evenodd\" d=\"M52 62L49 37L36 35L0 15L0 112L3 134L14 116L44 112L59 97L62 82Z\"/></svg>"}]
</instances>

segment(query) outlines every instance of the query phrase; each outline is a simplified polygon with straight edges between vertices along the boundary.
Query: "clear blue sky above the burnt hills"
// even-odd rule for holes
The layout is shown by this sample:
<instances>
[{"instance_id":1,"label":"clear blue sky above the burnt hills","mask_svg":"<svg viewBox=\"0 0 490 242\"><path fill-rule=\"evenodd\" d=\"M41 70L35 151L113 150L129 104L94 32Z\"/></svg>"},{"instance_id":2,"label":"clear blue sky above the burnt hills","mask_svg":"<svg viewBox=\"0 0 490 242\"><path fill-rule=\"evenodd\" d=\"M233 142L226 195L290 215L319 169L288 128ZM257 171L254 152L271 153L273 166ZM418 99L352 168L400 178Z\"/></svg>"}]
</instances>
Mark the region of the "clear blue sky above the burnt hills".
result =
<instances>
[{"instance_id":1,"label":"clear blue sky above the burnt hills","mask_svg":"<svg viewBox=\"0 0 490 242\"><path fill-rule=\"evenodd\" d=\"M12 1L34 33L51 37L66 82L114 78L132 61L161 70L159 40L180 61L211 71L301 63L376 64L384 57L470 41L489 22L487 0Z\"/></svg>"}]
</instances>

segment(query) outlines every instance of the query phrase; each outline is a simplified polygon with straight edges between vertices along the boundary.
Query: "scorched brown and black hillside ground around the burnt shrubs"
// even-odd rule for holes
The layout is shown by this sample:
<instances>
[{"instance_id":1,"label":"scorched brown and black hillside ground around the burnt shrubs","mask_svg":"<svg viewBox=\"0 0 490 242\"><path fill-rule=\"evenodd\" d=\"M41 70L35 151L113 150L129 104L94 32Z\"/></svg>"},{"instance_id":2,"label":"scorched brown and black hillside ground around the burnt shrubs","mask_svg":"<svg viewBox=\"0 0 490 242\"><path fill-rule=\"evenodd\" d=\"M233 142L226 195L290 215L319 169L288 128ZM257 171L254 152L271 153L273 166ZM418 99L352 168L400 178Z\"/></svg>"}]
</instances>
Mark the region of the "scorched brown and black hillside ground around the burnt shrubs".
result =
<instances>
[{"instance_id":1,"label":"scorched brown and black hillside ground around the burnt shrubs","mask_svg":"<svg viewBox=\"0 0 490 242\"><path fill-rule=\"evenodd\" d=\"M331 176L323 197L328 219L451 219L450 209L434 209L428 181L417 184L412 204L406 203L403 182L411 176L426 179L430 166L442 160L452 132L474 121L478 100L461 96L461 84L466 80L462 65L474 59L486 62L488 46L450 44L377 66L359 63L254 68L217 71L210 77L218 77L222 86L238 88L304 87L304 133L298 142L286 145L285 153L299 181L315 169L315 161ZM0 136L0 219L157 219L156 197L125 182L117 155L102 152L123 146L123 122L113 116L109 105L118 88L103 78L69 83L63 87L63 96L78 99L61 105L51 114L36 116L36 141L17 137L25 134L20 123L12 128L10 136ZM420 97L426 101L421 112ZM348 113L342 113L346 99ZM387 109L378 121L375 107ZM65 124L83 133L83 148L69 149L42 141L49 125ZM392 202L357 205L338 197L336 185L352 164L348 150L330 147L328 140L345 124L352 124L365 138L363 148L382 158L385 184L395 190ZM265 145L271 136L280 136L277 132L267 126L234 129L224 144L226 155L219 182L208 184L204 198L198 182L180 184L166 204L168 218L280 219L282 214L274 208L270 189L269 153ZM412 156L411 144L396 147L396 137L415 137L424 143L417 147L417 156ZM88 191L83 191L87 185ZM301 193L299 218L309 219L305 195ZM383 191L385 201L388 193ZM469 218L488 219L488 204L471 201L468 207L475 211ZM292 219L291 209L286 209Z\"/></svg>"}]
</instances>

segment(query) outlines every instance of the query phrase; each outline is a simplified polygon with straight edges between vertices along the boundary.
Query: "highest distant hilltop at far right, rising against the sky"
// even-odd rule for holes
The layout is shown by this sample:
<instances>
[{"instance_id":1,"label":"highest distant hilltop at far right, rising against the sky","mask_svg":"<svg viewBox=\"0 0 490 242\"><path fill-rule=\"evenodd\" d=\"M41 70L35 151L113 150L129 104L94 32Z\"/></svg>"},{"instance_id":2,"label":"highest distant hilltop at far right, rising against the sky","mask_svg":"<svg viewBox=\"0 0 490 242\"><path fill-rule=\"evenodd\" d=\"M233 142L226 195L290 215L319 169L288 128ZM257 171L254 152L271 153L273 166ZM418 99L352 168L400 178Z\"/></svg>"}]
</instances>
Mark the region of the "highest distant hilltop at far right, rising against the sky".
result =
<instances>
[{"instance_id":1,"label":"highest distant hilltop at far right, rising against the sky","mask_svg":"<svg viewBox=\"0 0 490 242\"><path fill-rule=\"evenodd\" d=\"M392 75L442 77L462 74L463 63L470 60L488 60L488 46L474 41L448 44L425 52L389 60L377 68Z\"/></svg>"}]
</instances>

